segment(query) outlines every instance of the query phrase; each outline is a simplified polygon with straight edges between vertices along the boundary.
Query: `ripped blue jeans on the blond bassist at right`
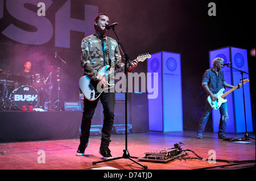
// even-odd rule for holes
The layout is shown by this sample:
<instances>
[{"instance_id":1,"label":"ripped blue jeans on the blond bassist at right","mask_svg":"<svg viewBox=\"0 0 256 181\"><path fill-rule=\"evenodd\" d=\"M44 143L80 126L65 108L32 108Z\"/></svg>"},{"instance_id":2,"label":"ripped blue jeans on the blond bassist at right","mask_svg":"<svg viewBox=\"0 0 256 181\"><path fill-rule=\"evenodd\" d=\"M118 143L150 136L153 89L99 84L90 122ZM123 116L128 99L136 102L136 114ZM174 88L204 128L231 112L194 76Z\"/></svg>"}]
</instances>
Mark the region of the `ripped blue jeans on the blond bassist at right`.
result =
<instances>
[{"instance_id":1,"label":"ripped blue jeans on the blond bassist at right","mask_svg":"<svg viewBox=\"0 0 256 181\"><path fill-rule=\"evenodd\" d=\"M210 112L212 112L212 107L210 107L210 104L208 103L208 101L206 101L204 113L201 116L201 119L199 121L199 127L197 129L197 136L203 136L205 125L207 124L207 121L209 119ZM220 114L221 114L221 117L220 117L220 124L218 126L218 135L225 136L226 120L228 119L228 104L226 102L221 104Z\"/></svg>"}]
</instances>

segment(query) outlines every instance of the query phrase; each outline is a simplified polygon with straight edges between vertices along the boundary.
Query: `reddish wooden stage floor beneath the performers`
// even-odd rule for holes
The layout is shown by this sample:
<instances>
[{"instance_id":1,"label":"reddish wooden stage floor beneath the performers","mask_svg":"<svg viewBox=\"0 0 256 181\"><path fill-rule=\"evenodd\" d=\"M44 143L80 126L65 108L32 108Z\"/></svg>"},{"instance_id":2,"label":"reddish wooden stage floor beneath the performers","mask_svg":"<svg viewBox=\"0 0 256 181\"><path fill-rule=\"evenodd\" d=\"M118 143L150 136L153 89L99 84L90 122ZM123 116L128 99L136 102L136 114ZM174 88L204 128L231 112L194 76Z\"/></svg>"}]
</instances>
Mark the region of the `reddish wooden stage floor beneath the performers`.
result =
<instances>
[{"instance_id":1,"label":"reddish wooden stage floor beneath the performers","mask_svg":"<svg viewBox=\"0 0 256 181\"><path fill-rule=\"evenodd\" d=\"M241 137L242 134L227 134L229 137ZM255 135L252 135L255 137ZM98 153L101 136L91 136L89 146L84 156L77 157L76 150L79 138L68 140L2 142L0 143L0 169L1 170L143 170L137 163L130 159L117 159L93 165L92 162L102 160ZM174 147L182 142L183 150L195 151L203 158L210 158L213 152L216 159L226 161L255 161L255 140L224 141L217 138L217 133L204 133L204 138L198 140L196 133L191 131L159 133L130 133L128 134L127 150L131 157L144 157L145 152L163 150ZM113 134L110 143L113 157L122 157L125 149L125 135ZM210 151L210 152L209 152ZM208 154L209 152L209 154ZM45 156L45 157L43 157ZM190 158L189 158L190 157ZM139 161L148 167L148 170L193 170L208 169L208 167L231 166L233 163L209 163L196 159L196 155L188 152L186 159L174 159L166 163ZM213 158L213 157L212 157ZM44 163L45 161L45 163ZM255 164L255 162L254 162ZM231 167L218 167L231 169ZM255 169L255 165L254 165Z\"/></svg>"}]
</instances>

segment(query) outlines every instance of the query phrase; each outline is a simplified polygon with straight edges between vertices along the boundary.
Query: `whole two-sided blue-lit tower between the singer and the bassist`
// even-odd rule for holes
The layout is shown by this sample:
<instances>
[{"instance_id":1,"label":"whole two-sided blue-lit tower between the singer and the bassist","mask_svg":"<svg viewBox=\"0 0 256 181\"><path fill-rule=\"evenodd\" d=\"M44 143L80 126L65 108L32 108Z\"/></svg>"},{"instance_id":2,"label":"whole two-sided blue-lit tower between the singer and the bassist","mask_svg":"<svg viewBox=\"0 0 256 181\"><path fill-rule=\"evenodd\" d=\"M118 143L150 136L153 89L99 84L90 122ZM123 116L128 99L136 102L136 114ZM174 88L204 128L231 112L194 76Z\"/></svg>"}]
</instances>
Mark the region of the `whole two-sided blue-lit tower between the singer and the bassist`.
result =
<instances>
[{"instance_id":1,"label":"whole two-sided blue-lit tower between the singer and the bassist","mask_svg":"<svg viewBox=\"0 0 256 181\"><path fill-rule=\"evenodd\" d=\"M158 97L148 99L150 131L183 131L180 54L159 52L151 56L147 71L158 73Z\"/></svg>"}]
</instances>

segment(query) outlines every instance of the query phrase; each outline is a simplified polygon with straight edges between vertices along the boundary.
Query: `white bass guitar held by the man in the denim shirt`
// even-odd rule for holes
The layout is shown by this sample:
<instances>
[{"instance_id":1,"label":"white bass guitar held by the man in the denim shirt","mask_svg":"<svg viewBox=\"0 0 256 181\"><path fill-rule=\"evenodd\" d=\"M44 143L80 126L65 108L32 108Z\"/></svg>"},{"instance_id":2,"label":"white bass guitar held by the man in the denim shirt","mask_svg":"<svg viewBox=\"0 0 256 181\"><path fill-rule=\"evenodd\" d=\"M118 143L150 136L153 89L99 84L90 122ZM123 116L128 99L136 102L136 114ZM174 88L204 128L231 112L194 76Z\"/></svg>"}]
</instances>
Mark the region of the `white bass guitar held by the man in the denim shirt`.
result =
<instances>
[{"instance_id":1,"label":"white bass guitar held by the man in the denim shirt","mask_svg":"<svg viewBox=\"0 0 256 181\"><path fill-rule=\"evenodd\" d=\"M242 85L245 84L246 82L249 82L249 79L245 79L243 81L241 81L241 83L239 83L238 85ZM225 96L227 96L229 93L233 92L234 90L236 90L238 88L238 85L236 87L233 87L232 89L230 89L229 91L225 92L223 94L223 91L225 90L224 88L221 89L220 91L218 91L218 93L216 94L217 99L212 101L212 98L210 98L210 96L208 96L208 102L210 104L210 107L212 107L214 110L218 110L218 108L221 107L222 103L227 102L227 99L224 99Z\"/></svg>"}]
</instances>

